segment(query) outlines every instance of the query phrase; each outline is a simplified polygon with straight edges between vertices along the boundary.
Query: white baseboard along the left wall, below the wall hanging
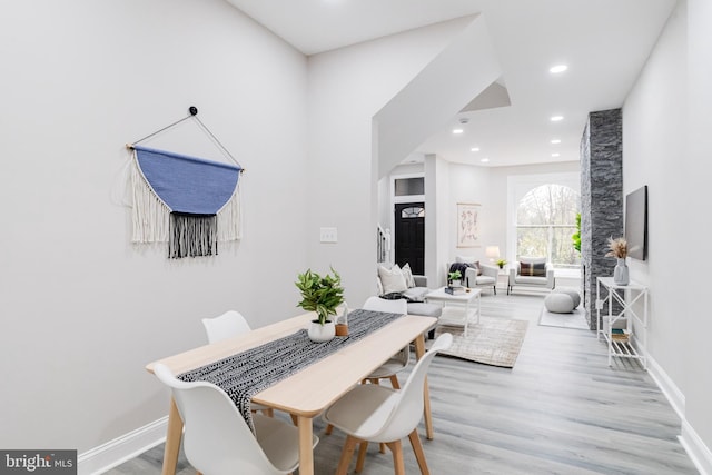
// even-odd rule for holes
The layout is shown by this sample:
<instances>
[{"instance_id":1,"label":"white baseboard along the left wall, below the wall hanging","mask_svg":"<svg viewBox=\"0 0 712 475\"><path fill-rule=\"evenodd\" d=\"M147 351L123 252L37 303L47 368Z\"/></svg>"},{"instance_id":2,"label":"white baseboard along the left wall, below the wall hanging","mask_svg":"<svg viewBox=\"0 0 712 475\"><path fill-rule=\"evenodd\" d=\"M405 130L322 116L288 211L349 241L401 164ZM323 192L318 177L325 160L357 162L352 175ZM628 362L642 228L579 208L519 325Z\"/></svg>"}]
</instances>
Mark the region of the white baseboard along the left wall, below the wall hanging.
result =
<instances>
[{"instance_id":1,"label":"white baseboard along the left wall, below the wall hanging","mask_svg":"<svg viewBox=\"0 0 712 475\"><path fill-rule=\"evenodd\" d=\"M77 457L79 475L102 474L166 441L168 416L123 434Z\"/></svg>"}]
</instances>

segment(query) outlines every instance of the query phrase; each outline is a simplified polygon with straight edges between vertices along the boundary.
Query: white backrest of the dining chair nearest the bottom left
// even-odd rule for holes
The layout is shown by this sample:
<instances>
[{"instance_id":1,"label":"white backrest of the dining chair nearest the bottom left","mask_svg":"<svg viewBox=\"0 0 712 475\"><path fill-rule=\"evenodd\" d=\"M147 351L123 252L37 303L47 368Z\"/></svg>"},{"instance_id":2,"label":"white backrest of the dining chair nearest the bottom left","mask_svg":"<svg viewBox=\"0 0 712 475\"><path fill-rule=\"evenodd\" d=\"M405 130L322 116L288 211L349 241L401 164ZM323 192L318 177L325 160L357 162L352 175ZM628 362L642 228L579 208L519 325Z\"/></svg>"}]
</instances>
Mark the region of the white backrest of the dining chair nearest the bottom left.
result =
<instances>
[{"instance_id":1,"label":"white backrest of the dining chair nearest the bottom left","mask_svg":"<svg viewBox=\"0 0 712 475\"><path fill-rule=\"evenodd\" d=\"M209 474L284 474L269 462L229 396L206 382L186 383L162 364L154 374L171 388L185 424L186 458Z\"/></svg>"}]
</instances>

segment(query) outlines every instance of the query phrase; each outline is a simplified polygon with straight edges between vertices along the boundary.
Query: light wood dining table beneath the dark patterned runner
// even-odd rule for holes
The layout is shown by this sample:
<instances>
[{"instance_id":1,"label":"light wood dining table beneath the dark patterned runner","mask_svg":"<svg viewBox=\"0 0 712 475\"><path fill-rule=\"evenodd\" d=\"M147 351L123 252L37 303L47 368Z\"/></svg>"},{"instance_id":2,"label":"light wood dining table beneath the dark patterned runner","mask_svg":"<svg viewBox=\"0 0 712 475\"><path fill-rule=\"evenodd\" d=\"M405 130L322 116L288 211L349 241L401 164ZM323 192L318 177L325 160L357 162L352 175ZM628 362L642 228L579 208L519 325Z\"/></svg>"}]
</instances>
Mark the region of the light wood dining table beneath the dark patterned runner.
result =
<instances>
[{"instance_id":1,"label":"light wood dining table beneath the dark patterned runner","mask_svg":"<svg viewBox=\"0 0 712 475\"><path fill-rule=\"evenodd\" d=\"M154 366L161 363L174 374L180 375L306 329L315 318L315 313L287 318L247 334L155 360L146 365L146 369L152 374ZM404 315L253 395L254 403L288 413L296 420L300 475L314 474L313 419L404 346L414 344L416 358L419 359L425 354L425 334L436 324L437 319L433 317ZM305 345L309 344L306 338L305 333ZM432 439L433 419L427 379L423 390L425 432L426 437ZM164 449L164 475L176 473L182 427L178 407L171 397Z\"/></svg>"}]
</instances>

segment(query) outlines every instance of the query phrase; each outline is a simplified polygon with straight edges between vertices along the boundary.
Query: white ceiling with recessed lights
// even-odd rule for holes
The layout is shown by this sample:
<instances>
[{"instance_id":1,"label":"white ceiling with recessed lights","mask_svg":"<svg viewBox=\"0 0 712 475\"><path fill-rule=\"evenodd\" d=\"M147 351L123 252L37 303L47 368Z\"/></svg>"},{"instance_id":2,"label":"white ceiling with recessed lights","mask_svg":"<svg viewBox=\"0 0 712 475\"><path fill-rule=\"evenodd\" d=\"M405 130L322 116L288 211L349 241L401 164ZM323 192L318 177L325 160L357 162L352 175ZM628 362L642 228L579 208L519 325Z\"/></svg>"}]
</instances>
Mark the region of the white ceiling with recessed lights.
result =
<instances>
[{"instance_id":1,"label":"white ceiling with recessed lights","mask_svg":"<svg viewBox=\"0 0 712 475\"><path fill-rule=\"evenodd\" d=\"M623 105L676 0L228 2L305 55L482 13L503 70L497 82L511 106L461 112L414 151L511 166L578 160L587 113ZM557 63L568 70L553 76L548 68ZM551 122L554 115L564 120ZM453 135L463 118L464 132ZM561 144L551 144L555 138ZM481 161L485 157L487 164Z\"/></svg>"}]
</instances>

